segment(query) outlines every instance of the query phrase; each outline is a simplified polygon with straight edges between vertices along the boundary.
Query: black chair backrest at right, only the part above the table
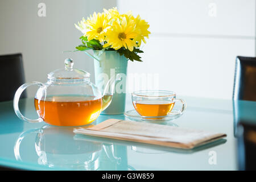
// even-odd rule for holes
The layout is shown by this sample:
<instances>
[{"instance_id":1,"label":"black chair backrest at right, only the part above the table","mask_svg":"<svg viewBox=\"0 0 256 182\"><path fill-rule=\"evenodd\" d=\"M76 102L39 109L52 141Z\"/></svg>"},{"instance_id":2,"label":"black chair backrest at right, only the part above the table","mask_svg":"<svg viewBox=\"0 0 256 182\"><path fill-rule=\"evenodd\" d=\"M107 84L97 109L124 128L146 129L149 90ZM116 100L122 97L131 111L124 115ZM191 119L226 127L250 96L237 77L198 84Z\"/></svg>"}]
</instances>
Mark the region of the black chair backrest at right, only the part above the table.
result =
<instances>
[{"instance_id":1,"label":"black chair backrest at right, only the part above the table","mask_svg":"<svg viewBox=\"0 0 256 182\"><path fill-rule=\"evenodd\" d=\"M233 100L256 101L256 57L237 56Z\"/></svg>"}]
</instances>

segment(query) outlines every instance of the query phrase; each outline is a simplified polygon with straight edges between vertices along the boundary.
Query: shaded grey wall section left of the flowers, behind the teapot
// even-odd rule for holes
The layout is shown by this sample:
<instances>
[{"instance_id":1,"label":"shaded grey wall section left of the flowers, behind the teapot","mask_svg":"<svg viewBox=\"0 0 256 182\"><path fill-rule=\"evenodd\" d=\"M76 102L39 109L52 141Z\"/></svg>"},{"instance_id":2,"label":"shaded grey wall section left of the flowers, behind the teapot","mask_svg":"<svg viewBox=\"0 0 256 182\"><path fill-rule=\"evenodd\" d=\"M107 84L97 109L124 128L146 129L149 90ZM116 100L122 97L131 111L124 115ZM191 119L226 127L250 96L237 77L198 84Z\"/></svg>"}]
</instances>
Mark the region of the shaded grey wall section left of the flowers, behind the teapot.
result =
<instances>
[{"instance_id":1,"label":"shaded grey wall section left of the flowers, behind the teapot","mask_svg":"<svg viewBox=\"0 0 256 182\"><path fill-rule=\"evenodd\" d=\"M46 17L38 16L41 2L46 4ZM0 55L21 52L27 82L46 82L47 74L63 68L67 57L75 61L75 67L90 72L94 80L92 59L84 53L63 51L75 50L80 44L81 32L74 23L113 6L114 0L1 0ZM28 96L34 97L35 90L28 89Z\"/></svg>"}]
</instances>

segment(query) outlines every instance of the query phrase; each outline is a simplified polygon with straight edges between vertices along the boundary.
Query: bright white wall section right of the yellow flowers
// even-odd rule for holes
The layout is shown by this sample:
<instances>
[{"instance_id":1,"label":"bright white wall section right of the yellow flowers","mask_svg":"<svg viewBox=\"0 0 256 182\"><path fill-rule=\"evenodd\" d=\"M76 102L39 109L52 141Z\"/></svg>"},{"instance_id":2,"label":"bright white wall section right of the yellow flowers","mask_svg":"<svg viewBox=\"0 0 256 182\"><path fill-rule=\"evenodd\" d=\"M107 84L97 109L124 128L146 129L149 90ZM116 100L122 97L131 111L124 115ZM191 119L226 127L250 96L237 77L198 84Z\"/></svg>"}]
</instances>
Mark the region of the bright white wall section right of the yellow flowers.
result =
<instances>
[{"instance_id":1,"label":"bright white wall section right of the yellow flowers","mask_svg":"<svg viewBox=\"0 0 256 182\"><path fill-rule=\"evenodd\" d=\"M143 63L129 63L130 74L158 74L159 89L180 95L232 98L236 56L255 56L255 0L119 0L117 6L140 14L152 33Z\"/></svg>"}]
</instances>

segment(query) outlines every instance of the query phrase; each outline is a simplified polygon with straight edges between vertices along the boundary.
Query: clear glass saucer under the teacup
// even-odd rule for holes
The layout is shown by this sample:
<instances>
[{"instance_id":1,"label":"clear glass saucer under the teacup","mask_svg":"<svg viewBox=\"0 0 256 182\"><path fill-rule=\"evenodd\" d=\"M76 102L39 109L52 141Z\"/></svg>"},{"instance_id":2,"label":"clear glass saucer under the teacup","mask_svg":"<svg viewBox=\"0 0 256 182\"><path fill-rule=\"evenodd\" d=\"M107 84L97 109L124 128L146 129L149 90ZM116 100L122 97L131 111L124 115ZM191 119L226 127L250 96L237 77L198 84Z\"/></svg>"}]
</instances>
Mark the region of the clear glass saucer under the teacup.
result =
<instances>
[{"instance_id":1,"label":"clear glass saucer under the teacup","mask_svg":"<svg viewBox=\"0 0 256 182\"><path fill-rule=\"evenodd\" d=\"M172 111L164 116L142 116L137 113L135 109L129 110L125 112L125 116L131 120L134 121L148 121L148 122L164 122L164 121L172 121L174 119L177 119L181 117L183 113L180 112L180 110L172 109Z\"/></svg>"}]
</instances>

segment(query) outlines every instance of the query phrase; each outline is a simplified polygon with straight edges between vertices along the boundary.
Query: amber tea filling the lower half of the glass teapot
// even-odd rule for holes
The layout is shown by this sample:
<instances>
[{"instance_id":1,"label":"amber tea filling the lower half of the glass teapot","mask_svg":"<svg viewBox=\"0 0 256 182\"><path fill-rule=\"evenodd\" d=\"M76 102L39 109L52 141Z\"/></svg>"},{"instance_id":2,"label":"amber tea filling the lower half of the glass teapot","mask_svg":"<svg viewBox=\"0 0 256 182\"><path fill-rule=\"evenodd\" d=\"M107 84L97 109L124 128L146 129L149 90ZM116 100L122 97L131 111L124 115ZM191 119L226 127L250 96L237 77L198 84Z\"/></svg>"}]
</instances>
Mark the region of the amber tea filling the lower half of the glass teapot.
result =
<instances>
[{"instance_id":1,"label":"amber tea filling the lower half of the glass teapot","mask_svg":"<svg viewBox=\"0 0 256 182\"><path fill-rule=\"evenodd\" d=\"M52 96L45 101L35 98L35 108L44 121L57 126L79 126L94 121L100 114L101 98L84 96ZM72 114L67 115L67 113Z\"/></svg>"}]
</instances>

